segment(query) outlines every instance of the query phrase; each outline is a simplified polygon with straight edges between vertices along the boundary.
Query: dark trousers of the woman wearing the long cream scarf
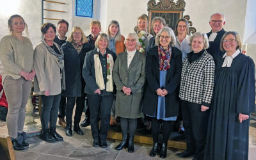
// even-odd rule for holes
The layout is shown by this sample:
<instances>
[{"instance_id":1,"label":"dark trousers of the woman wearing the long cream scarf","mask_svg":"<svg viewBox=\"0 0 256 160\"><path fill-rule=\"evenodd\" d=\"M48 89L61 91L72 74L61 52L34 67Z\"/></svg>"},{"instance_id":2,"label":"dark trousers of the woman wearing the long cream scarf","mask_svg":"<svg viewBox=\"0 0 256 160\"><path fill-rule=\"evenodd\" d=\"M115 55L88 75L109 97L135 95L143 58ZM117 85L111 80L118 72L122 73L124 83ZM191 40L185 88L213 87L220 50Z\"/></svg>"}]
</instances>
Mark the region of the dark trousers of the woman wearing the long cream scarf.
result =
<instances>
[{"instance_id":1,"label":"dark trousers of the woman wearing the long cream scarf","mask_svg":"<svg viewBox=\"0 0 256 160\"><path fill-rule=\"evenodd\" d=\"M93 139L106 140L108 136L110 111L113 103L111 95L89 95L87 94L90 108L90 122ZM100 114L100 115L99 115ZM100 128L98 118L100 117Z\"/></svg>"}]
</instances>

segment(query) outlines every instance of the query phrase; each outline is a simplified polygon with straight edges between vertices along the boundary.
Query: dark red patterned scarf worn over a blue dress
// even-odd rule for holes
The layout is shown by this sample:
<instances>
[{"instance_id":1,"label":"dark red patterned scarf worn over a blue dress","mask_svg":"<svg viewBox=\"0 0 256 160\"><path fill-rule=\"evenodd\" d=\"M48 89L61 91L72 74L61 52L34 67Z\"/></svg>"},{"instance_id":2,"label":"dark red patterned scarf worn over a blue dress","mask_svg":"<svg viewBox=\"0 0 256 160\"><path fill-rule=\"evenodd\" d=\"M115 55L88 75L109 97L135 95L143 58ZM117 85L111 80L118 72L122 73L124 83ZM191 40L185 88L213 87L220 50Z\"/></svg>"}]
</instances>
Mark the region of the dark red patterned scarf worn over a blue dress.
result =
<instances>
[{"instance_id":1,"label":"dark red patterned scarf worn over a blue dress","mask_svg":"<svg viewBox=\"0 0 256 160\"><path fill-rule=\"evenodd\" d=\"M158 45L159 70L168 70L170 68L170 60L172 54L172 47L168 46L164 49L160 44Z\"/></svg>"}]
</instances>

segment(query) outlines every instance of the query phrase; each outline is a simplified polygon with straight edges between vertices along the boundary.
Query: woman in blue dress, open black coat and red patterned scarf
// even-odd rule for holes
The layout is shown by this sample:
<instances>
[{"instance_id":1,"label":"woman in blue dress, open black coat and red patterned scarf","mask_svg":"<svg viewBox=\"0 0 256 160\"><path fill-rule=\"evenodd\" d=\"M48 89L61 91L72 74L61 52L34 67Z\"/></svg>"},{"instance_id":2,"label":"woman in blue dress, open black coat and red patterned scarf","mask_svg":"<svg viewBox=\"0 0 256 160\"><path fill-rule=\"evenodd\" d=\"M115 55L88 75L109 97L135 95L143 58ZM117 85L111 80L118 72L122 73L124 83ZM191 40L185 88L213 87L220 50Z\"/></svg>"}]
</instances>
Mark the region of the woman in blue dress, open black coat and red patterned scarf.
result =
<instances>
[{"instance_id":1,"label":"woman in blue dress, open black coat and red patterned scarf","mask_svg":"<svg viewBox=\"0 0 256 160\"><path fill-rule=\"evenodd\" d=\"M179 84L182 67L181 52L176 47L171 28L164 27L156 35L156 46L150 49L146 59L148 86L145 91L143 113L152 117L154 145L150 156L157 153L166 157L167 142L179 115ZM163 122L163 143L159 145L160 124Z\"/></svg>"}]
</instances>

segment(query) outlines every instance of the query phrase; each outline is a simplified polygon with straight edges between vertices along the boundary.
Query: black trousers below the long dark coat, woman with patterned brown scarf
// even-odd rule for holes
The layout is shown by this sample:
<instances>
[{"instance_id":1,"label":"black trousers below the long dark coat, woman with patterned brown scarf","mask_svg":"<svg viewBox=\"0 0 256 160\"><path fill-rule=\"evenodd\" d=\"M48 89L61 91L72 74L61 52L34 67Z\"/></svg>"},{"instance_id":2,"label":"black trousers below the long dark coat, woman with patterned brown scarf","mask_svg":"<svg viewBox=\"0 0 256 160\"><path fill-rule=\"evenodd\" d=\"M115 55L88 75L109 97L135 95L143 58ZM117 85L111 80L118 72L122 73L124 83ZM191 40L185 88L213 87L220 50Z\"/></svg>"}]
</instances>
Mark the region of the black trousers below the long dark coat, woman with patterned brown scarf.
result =
<instances>
[{"instance_id":1,"label":"black trousers below the long dark coat, woman with patterned brown scarf","mask_svg":"<svg viewBox=\"0 0 256 160\"><path fill-rule=\"evenodd\" d=\"M84 100L83 97L67 97L67 108L66 108L66 122L67 124L72 124L72 115L73 109L76 103L76 112L74 117L74 124L79 124L81 120L81 116L84 109Z\"/></svg>"}]
</instances>

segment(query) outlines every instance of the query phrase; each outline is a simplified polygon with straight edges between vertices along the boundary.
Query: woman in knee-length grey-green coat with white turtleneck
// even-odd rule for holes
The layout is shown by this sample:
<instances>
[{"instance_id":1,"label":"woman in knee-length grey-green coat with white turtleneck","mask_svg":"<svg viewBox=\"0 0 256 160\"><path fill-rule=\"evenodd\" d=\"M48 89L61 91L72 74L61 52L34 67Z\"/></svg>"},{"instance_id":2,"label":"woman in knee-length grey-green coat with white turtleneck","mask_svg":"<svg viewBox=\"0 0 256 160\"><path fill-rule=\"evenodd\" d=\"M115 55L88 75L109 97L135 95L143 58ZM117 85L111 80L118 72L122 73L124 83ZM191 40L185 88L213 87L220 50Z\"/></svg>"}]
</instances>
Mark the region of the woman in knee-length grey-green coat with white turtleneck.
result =
<instances>
[{"instance_id":1,"label":"woman in knee-length grey-green coat with white turtleneck","mask_svg":"<svg viewBox=\"0 0 256 160\"><path fill-rule=\"evenodd\" d=\"M117 55L113 68L113 80L116 84L116 116L120 116L123 134L122 142L116 146L116 150L128 145L128 152L134 152L133 138L137 128L137 118L143 116L141 99L145 83L145 55L136 49L139 42L136 33L129 33L124 42L127 50Z\"/></svg>"}]
</instances>

